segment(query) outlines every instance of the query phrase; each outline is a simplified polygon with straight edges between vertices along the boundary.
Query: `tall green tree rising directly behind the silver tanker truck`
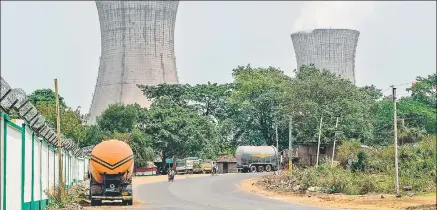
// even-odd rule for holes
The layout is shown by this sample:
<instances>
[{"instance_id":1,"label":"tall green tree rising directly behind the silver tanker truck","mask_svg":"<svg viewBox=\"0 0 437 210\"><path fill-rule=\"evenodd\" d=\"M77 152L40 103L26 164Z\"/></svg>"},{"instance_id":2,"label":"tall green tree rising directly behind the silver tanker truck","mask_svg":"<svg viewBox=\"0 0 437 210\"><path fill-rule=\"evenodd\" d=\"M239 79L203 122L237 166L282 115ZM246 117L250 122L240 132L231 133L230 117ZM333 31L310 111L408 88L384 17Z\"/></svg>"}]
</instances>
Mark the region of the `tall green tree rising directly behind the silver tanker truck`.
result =
<instances>
[{"instance_id":1,"label":"tall green tree rising directly behind the silver tanker truck","mask_svg":"<svg viewBox=\"0 0 437 210\"><path fill-rule=\"evenodd\" d=\"M274 67L250 65L238 66L233 76L228 115L235 144L275 145L274 124L284 116L291 78Z\"/></svg>"}]
</instances>

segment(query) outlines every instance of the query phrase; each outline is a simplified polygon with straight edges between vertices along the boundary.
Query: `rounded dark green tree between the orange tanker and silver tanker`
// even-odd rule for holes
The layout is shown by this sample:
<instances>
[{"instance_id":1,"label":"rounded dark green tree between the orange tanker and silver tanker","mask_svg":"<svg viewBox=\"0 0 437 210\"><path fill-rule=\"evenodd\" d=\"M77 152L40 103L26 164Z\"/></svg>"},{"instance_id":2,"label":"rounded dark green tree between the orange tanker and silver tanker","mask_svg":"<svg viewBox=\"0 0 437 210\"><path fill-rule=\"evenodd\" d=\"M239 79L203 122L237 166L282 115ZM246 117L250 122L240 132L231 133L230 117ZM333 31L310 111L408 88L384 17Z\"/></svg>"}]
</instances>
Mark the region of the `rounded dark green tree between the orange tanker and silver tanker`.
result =
<instances>
[{"instance_id":1,"label":"rounded dark green tree between the orange tanker and silver tanker","mask_svg":"<svg viewBox=\"0 0 437 210\"><path fill-rule=\"evenodd\" d=\"M167 157L211 156L214 124L197 111L169 99L155 101L147 113L143 131L150 135L155 152Z\"/></svg>"}]
</instances>

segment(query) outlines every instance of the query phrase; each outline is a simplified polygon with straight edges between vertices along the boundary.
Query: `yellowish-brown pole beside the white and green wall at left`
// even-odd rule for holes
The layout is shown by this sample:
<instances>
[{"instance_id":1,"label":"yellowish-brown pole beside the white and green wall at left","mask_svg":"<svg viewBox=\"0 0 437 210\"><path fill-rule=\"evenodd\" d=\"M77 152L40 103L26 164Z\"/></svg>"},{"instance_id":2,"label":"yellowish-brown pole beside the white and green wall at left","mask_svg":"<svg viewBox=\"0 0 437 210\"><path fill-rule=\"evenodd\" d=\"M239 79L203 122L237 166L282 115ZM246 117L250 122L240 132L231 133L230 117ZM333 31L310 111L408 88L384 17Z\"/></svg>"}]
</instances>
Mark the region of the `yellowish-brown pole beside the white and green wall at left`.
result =
<instances>
[{"instance_id":1,"label":"yellowish-brown pole beside the white and green wall at left","mask_svg":"<svg viewBox=\"0 0 437 210\"><path fill-rule=\"evenodd\" d=\"M55 94L56 94L56 127L58 136L58 167L59 167L59 199L62 198L64 193L64 176L62 175L62 145L61 145L61 113L59 108L59 95L58 95L58 79L55 79Z\"/></svg>"}]
</instances>

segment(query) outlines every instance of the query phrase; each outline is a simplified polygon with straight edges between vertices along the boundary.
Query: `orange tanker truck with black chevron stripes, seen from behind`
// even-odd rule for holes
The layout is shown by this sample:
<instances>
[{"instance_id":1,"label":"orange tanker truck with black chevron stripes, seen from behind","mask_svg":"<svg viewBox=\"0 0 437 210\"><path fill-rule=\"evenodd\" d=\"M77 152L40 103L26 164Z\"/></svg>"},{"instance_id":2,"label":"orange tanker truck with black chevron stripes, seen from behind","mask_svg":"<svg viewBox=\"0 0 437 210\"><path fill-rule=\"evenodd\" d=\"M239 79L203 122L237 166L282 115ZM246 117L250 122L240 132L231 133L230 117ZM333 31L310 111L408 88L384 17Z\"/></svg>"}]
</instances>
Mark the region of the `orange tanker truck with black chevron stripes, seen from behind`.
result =
<instances>
[{"instance_id":1,"label":"orange tanker truck with black chevron stripes, seen from behind","mask_svg":"<svg viewBox=\"0 0 437 210\"><path fill-rule=\"evenodd\" d=\"M118 140L97 144L90 155L89 178L91 205L102 200L122 200L132 205L132 173L134 158L132 149Z\"/></svg>"}]
</instances>

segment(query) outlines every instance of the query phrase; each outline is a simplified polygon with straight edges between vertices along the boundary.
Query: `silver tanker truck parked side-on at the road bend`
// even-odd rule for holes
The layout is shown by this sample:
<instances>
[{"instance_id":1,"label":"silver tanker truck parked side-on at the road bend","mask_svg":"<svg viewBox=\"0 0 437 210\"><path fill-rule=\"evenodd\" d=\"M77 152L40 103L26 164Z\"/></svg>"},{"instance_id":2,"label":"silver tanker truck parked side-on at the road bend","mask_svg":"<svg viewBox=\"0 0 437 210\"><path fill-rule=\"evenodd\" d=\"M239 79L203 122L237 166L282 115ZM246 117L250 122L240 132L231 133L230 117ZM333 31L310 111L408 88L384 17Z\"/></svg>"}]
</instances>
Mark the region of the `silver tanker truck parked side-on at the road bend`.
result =
<instances>
[{"instance_id":1,"label":"silver tanker truck parked side-on at the road bend","mask_svg":"<svg viewBox=\"0 0 437 210\"><path fill-rule=\"evenodd\" d=\"M278 170L278 150L273 146L239 146L235 152L237 169L243 172Z\"/></svg>"}]
</instances>

